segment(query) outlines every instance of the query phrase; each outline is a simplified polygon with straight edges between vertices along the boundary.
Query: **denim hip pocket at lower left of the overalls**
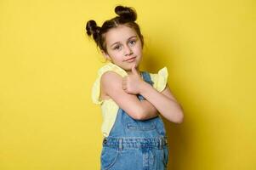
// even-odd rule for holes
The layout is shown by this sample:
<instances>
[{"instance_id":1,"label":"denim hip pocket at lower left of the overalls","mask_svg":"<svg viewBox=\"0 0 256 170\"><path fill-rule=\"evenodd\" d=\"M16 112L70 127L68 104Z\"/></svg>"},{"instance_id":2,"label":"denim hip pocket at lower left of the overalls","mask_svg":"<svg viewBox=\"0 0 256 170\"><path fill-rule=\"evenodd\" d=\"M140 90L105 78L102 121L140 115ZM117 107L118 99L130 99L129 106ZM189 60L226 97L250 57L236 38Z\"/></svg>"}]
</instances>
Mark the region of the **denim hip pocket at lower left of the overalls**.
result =
<instances>
[{"instance_id":1,"label":"denim hip pocket at lower left of the overalls","mask_svg":"<svg viewBox=\"0 0 256 170\"><path fill-rule=\"evenodd\" d=\"M118 151L115 148L103 147L100 156L100 169L107 170L117 161Z\"/></svg>"}]
</instances>

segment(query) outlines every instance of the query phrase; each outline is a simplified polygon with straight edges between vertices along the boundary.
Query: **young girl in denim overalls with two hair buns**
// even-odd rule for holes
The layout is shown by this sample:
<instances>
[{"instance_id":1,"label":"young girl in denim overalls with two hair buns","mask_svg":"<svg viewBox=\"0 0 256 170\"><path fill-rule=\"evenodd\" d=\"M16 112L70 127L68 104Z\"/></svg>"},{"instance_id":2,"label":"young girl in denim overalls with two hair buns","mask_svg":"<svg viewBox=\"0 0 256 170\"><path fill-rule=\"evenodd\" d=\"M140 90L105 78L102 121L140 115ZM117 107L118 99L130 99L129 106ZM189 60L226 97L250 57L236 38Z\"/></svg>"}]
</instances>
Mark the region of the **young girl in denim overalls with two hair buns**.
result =
<instances>
[{"instance_id":1,"label":"young girl in denim overalls with two hair buns","mask_svg":"<svg viewBox=\"0 0 256 170\"><path fill-rule=\"evenodd\" d=\"M102 170L163 170L168 164L168 144L159 113L181 123L181 105L168 88L168 71L139 71L143 36L134 8L117 6L117 17L100 27L87 22L88 36L109 62L94 82L92 99L101 106L104 135Z\"/></svg>"}]
</instances>

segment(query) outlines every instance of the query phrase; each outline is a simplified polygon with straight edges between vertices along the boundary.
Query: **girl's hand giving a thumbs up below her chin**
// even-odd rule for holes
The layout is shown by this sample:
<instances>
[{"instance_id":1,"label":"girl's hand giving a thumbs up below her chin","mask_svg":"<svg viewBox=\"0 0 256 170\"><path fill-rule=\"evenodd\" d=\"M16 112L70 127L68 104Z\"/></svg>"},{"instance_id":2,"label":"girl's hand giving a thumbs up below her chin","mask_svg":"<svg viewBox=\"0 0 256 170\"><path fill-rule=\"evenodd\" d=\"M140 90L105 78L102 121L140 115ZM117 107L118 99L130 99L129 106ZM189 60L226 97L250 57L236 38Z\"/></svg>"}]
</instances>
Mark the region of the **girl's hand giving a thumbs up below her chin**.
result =
<instances>
[{"instance_id":1,"label":"girl's hand giving a thumbs up below her chin","mask_svg":"<svg viewBox=\"0 0 256 170\"><path fill-rule=\"evenodd\" d=\"M142 83L144 83L144 81L136 70L136 64L134 64L132 73L122 78L122 89L128 94L139 94Z\"/></svg>"}]
</instances>

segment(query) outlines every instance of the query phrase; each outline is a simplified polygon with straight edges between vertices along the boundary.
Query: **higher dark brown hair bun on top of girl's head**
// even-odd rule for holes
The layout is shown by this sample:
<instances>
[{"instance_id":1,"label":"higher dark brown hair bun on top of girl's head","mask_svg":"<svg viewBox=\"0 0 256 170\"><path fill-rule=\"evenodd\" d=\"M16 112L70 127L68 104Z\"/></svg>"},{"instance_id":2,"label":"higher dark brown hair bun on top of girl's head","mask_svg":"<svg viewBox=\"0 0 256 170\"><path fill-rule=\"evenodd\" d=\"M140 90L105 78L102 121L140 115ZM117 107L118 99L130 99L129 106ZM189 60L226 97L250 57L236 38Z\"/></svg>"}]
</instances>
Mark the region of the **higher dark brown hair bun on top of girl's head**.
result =
<instances>
[{"instance_id":1,"label":"higher dark brown hair bun on top of girl's head","mask_svg":"<svg viewBox=\"0 0 256 170\"><path fill-rule=\"evenodd\" d=\"M115 13L125 20L135 21L137 19L137 14L134 8L119 5L115 8Z\"/></svg>"}]
</instances>

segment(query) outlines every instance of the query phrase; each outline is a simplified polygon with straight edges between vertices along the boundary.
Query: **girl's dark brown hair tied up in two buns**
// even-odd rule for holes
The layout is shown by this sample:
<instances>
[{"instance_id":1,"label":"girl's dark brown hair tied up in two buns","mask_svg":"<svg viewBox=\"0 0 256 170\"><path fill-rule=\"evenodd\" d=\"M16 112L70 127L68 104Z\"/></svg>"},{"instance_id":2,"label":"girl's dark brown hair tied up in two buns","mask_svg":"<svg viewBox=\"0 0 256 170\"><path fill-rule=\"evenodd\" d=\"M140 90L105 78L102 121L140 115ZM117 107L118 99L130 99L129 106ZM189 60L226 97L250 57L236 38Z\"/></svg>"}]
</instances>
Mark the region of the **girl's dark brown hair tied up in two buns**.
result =
<instances>
[{"instance_id":1,"label":"girl's dark brown hair tied up in two buns","mask_svg":"<svg viewBox=\"0 0 256 170\"><path fill-rule=\"evenodd\" d=\"M144 39L140 32L139 25L135 22L137 19L137 14L134 8L123 7L118 5L115 8L115 13L118 15L111 20L105 20L103 25L97 26L94 20L88 20L86 24L86 31L88 36L93 36L94 41L101 50L107 53L105 45L105 33L111 28L116 28L117 26L124 25L133 28L137 32L139 39L141 41L142 47L144 45Z\"/></svg>"}]
</instances>

